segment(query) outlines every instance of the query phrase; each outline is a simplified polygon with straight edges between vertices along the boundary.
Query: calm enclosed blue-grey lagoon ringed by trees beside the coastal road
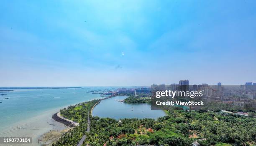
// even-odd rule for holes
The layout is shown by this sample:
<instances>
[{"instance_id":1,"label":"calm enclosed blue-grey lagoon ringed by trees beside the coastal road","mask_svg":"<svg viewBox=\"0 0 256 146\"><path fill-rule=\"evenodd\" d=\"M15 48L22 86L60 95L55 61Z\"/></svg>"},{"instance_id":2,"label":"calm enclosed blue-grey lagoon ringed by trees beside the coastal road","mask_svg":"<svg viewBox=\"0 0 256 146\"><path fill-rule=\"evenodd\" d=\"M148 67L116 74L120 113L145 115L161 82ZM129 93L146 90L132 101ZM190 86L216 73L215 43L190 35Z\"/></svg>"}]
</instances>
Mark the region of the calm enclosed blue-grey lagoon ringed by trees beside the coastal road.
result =
<instances>
[{"instance_id":1,"label":"calm enclosed blue-grey lagoon ringed by trees beside the coastal road","mask_svg":"<svg viewBox=\"0 0 256 146\"><path fill-rule=\"evenodd\" d=\"M152 118L157 119L165 116L162 110L151 110L150 104L125 104L118 100L125 99L126 96L118 96L100 101L92 111L93 116L110 117L114 119L123 118ZM116 99L116 100L115 100Z\"/></svg>"}]
</instances>

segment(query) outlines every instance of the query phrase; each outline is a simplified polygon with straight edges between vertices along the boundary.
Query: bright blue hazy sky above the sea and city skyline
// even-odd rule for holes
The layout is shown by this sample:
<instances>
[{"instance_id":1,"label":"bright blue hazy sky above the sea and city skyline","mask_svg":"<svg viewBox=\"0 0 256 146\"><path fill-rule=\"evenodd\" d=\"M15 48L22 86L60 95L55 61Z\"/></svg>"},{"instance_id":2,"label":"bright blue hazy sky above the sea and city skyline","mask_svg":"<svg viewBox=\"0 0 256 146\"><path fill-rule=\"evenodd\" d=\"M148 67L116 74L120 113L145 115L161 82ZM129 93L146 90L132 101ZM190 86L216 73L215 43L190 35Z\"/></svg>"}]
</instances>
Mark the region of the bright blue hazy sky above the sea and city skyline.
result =
<instances>
[{"instance_id":1,"label":"bright blue hazy sky above the sea and city skyline","mask_svg":"<svg viewBox=\"0 0 256 146\"><path fill-rule=\"evenodd\" d=\"M255 5L2 0L0 87L256 82Z\"/></svg>"}]
</instances>

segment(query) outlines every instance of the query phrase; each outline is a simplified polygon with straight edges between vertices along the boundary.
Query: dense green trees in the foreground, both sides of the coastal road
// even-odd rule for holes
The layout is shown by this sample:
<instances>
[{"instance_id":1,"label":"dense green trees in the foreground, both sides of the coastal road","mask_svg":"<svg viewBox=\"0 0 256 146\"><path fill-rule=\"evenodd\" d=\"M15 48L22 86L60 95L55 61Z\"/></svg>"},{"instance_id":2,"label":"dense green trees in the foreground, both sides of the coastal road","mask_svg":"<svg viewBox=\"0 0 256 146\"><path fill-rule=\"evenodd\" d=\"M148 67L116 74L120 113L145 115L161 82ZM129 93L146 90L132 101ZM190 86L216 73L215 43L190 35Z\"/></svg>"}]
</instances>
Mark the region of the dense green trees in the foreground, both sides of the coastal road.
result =
<instances>
[{"instance_id":1,"label":"dense green trees in the foreground, both sides of the coastal road","mask_svg":"<svg viewBox=\"0 0 256 146\"><path fill-rule=\"evenodd\" d=\"M73 146L78 143L87 125L87 112L97 101L71 106L61 111L80 126L63 134L54 146ZM166 111L166 116L154 119L111 119L91 117L91 131L84 146L135 146L143 144L191 146L230 146L255 144L256 119L215 111Z\"/></svg>"}]
</instances>

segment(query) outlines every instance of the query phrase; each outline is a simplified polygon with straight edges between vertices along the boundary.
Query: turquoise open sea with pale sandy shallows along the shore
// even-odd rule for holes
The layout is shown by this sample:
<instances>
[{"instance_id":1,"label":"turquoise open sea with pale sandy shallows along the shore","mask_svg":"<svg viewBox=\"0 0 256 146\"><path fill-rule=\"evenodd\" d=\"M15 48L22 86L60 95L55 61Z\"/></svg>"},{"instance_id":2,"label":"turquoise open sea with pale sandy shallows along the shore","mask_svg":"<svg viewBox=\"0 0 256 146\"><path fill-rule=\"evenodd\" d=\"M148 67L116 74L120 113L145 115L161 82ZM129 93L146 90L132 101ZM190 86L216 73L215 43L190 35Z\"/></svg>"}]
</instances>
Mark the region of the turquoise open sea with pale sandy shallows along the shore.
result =
<instances>
[{"instance_id":1,"label":"turquoise open sea with pale sandy shallows along the shore","mask_svg":"<svg viewBox=\"0 0 256 146\"><path fill-rule=\"evenodd\" d=\"M51 118L54 113L70 105L102 98L100 94L86 93L90 90L111 88L14 89L0 96L0 137L32 137L33 145L37 145L41 134L65 128Z\"/></svg>"}]
</instances>

